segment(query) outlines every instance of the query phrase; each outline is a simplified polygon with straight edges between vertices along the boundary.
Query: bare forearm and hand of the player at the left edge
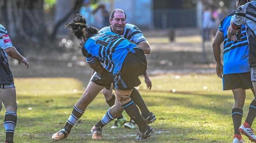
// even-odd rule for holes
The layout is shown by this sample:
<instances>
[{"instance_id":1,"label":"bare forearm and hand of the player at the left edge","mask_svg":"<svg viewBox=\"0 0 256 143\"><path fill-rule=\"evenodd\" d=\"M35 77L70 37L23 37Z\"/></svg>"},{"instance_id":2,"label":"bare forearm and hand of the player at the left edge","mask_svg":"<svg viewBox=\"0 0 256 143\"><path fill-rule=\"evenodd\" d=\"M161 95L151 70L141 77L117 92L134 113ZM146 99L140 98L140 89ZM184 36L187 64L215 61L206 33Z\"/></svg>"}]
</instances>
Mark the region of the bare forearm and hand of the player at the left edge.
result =
<instances>
[{"instance_id":1,"label":"bare forearm and hand of the player at the left edge","mask_svg":"<svg viewBox=\"0 0 256 143\"><path fill-rule=\"evenodd\" d=\"M15 47L13 47L13 46L8 47L8 48L4 49L4 51L11 58L15 58L16 60L18 60L19 65L20 65L20 63L24 63L25 67L28 69L28 61L27 61L27 59L24 58L23 56L21 56L21 54L17 51L17 49Z\"/></svg>"}]
</instances>

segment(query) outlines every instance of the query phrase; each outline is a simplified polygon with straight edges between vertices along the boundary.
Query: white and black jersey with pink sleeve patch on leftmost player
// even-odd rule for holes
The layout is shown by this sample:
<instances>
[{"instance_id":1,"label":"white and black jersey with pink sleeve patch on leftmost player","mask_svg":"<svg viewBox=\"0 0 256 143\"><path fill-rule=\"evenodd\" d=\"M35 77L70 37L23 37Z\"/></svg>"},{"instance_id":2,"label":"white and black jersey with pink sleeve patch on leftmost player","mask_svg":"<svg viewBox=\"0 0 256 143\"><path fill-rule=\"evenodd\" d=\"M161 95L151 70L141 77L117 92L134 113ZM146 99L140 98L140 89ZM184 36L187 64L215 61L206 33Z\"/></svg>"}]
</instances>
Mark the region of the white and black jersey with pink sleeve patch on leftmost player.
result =
<instances>
[{"instance_id":1,"label":"white and black jersey with pink sleeve patch on leftmost player","mask_svg":"<svg viewBox=\"0 0 256 143\"><path fill-rule=\"evenodd\" d=\"M0 84L14 84L13 74L9 67L8 56L4 49L12 47L13 44L9 38L8 32L0 24Z\"/></svg>"}]
</instances>

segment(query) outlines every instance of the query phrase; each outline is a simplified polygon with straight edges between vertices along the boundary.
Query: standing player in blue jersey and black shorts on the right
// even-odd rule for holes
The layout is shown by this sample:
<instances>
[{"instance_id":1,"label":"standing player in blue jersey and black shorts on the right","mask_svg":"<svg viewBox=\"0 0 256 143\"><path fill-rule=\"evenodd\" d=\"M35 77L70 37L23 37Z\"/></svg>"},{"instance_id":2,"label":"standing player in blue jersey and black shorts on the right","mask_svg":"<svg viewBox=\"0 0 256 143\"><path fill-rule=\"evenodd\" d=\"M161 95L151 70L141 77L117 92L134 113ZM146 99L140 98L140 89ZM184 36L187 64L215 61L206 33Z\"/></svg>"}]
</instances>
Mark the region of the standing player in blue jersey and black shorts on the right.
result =
<instances>
[{"instance_id":1,"label":"standing player in blue jersey and black shorts on the right","mask_svg":"<svg viewBox=\"0 0 256 143\"><path fill-rule=\"evenodd\" d=\"M236 6L246 4L246 0L237 0ZM255 95L250 81L249 44L245 26L237 32L237 40L228 39L228 27L230 26L231 13L226 16L219 25L219 30L213 40L213 54L216 61L216 74L223 79L223 90L232 90L235 103L232 107L232 120L234 125L233 143L244 143L239 127L243 117L243 105L245 103L246 89L251 89ZM221 43L223 44L223 64L221 63ZM224 66L223 66L224 65Z\"/></svg>"}]
</instances>

